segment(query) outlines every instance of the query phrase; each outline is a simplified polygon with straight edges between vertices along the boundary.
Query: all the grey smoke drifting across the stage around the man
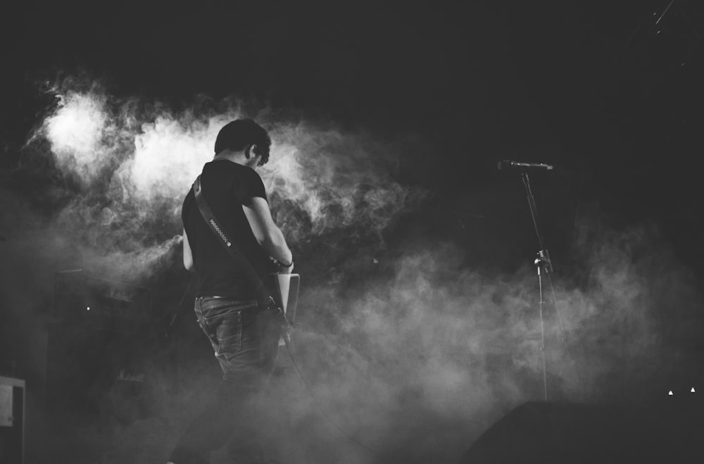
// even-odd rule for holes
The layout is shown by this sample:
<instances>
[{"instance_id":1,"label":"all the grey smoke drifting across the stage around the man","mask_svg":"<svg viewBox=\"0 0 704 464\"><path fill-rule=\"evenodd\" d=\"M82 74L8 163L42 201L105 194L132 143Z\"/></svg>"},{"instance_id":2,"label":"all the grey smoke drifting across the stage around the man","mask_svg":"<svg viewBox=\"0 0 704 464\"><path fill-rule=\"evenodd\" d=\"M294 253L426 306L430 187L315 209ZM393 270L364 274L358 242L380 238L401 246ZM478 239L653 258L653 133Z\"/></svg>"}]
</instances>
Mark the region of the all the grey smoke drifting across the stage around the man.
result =
<instances>
[{"instance_id":1,"label":"all the grey smoke drifting across the stage around the man","mask_svg":"<svg viewBox=\"0 0 704 464\"><path fill-rule=\"evenodd\" d=\"M403 151L394 143L237 101L175 111L98 85L67 81L53 92L56 106L18 170L43 159L55 175L24 172L36 191L3 194L13 243L4 261L20 263L4 267L3 305L19 308L13 317L27 332L45 317L58 270L180 295L182 282L158 279L180 269L180 205L215 135L245 116L270 130L261 173L303 274L296 362L282 353L270 387L281 401L263 405L271 458L453 462L510 408L543 398L543 332L549 396L586 402L648 397L696 337L700 292L657 227L614 230L598 213L585 217L571 267L545 282L541 327L534 268L467 267L458 244L396 227L406 216L422 220L431 194L397 180ZM30 288L39 291L27 298ZM87 433L107 450L94 462L165 458L217 366L206 353L180 369L177 391L165 387L169 374L153 386L151 416Z\"/></svg>"}]
</instances>

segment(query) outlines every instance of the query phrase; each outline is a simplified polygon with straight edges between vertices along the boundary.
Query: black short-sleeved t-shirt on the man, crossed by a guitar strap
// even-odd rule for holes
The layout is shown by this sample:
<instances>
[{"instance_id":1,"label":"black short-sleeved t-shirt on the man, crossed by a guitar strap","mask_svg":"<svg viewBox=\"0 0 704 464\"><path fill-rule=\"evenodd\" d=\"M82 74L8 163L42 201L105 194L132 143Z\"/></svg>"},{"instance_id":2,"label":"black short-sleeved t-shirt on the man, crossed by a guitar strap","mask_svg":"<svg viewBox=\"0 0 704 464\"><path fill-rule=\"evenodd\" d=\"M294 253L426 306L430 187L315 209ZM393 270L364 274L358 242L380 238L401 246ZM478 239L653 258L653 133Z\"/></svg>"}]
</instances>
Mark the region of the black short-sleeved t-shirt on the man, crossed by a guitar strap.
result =
<instances>
[{"instance_id":1,"label":"black short-sleeved t-shirt on the man, crossed by a guitar strap","mask_svg":"<svg viewBox=\"0 0 704 464\"><path fill-rule=\"evenodd\" d=\"M259 275L264 277L275 272L242 210L242 206L251 204L255 196L268 201L264 183L256 171L232 161L211 161L203 166L201 188L220 227L234 240ZM192 187L184 199L181 218L193 252L196 296L256 299L252 284L203 220Z\"/></svg>"}]
</instances>

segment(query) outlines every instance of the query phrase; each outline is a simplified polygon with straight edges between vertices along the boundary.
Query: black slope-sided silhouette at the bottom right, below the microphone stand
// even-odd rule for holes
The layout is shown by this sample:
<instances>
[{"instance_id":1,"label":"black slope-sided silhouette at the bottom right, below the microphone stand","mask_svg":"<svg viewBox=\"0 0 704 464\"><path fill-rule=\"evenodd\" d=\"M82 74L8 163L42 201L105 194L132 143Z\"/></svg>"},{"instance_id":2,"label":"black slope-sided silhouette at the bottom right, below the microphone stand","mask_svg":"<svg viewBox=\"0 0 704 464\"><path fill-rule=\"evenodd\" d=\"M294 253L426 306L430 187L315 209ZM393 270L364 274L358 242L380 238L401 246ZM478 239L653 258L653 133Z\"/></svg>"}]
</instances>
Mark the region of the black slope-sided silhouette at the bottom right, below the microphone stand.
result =
<instances>
[{"instance_id":1,"label":"black slope-sided silhouette at the bottom right, below the microphone stand","mask_svg":"<svg viewBox=\"0 0 704 464\"><path fill-rule=\"evenodd\" d=\"M700 407L524 403L484 432L458 464L701 463Z\"/></svg>"}]
</instances>

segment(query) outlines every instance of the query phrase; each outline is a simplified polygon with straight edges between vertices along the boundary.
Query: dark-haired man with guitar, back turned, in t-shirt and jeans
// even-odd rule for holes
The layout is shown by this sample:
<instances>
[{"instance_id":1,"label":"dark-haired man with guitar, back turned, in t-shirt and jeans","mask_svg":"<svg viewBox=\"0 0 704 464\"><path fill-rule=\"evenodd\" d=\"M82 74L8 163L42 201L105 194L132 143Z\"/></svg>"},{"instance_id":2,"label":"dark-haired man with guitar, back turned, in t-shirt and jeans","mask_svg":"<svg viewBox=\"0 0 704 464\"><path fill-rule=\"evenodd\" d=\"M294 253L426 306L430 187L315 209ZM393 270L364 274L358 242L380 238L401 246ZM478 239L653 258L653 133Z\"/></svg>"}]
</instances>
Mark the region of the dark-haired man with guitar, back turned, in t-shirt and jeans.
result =
<instances>
[{"instance_id":1,"label":"dark-haired man with guitar, back turned, in t-shirt and jeans","mask_svg":"<svg viewBox=\"0 0 704 464\"><path fill-rule=\"evenodd\" d=\"M215 219L263 278L271 272L290 273L294 264L256 173L268 161L270 146L260 125L234 120L218 133L215 157L201 174L202 194ZM182 220L183 263L196 274L194 310L220 362L222 382L215 399L178 441L170 463L208 463L210 451L228 439L231 456L239 459L234 462L262 462L256 415L248 402L273 368L280 315L257 303L255 287L203 220L192 188Z\"/></svg>"}]
</instances>

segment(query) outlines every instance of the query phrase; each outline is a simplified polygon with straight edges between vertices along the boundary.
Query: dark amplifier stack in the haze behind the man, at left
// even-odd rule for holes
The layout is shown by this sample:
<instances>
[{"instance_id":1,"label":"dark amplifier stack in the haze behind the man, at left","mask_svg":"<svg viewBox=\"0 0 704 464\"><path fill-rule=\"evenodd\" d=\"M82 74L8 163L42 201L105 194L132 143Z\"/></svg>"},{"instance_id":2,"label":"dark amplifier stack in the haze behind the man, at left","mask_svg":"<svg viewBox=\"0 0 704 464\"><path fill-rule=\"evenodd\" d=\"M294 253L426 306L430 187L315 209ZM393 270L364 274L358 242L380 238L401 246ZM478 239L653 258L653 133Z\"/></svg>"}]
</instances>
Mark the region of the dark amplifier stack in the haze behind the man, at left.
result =
<instances>
[{"instance_id":1,"label":"dark amplifier stack in the haze behind the man, at left","mask_svg":"<svg viewBox=\"0 0 704 464\"><path fill-rule=\"evenodd\" d=\"M106 413L134 419L144 402L145 360L156 340L151 298L150 289L92 272L56 273L46 346L51 413L79 422Z\"/></svg>"}]
</instances>

